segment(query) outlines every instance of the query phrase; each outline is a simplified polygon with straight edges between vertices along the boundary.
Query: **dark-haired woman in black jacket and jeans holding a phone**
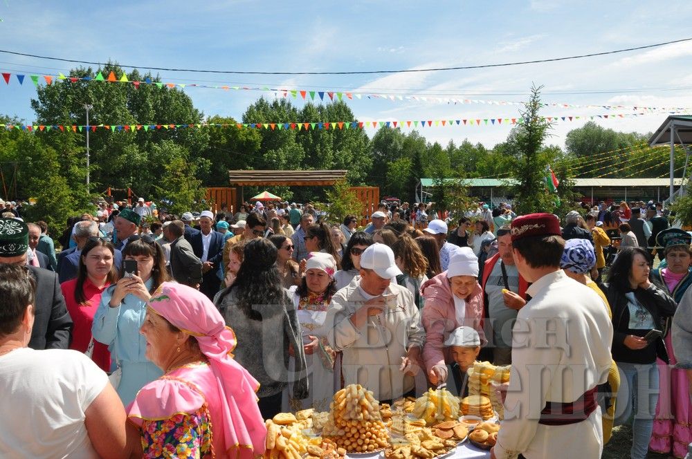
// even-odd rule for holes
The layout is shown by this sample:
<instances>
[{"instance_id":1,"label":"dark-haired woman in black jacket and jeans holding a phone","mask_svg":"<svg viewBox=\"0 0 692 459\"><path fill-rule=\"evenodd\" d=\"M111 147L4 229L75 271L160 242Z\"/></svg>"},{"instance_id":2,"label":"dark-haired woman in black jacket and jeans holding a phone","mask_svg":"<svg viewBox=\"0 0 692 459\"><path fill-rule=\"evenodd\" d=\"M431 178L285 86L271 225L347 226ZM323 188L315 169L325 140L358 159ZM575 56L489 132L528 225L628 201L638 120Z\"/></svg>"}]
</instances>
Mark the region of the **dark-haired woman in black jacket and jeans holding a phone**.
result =
<instances>
[{"instance_id":1,"label":"dark-haired woman in black jacket and jeans holding a phone","mask_svg":"<svg viewBox=\"0 0 692 459\"><path fill-rule=\"evenodd\" d=\"M626 247L610 268L605 296L612 308L612 358L620 369L618 409L615 424L626 422L636 407L632 421L632 459L644 459L653 429L659 393L656 357L668 363L662 337L651 330L663 330L675 314L675 300L649 281L651 258L641 247ZM644 337L649 335L653 339Z\"/></svg>"}]
</instances>

